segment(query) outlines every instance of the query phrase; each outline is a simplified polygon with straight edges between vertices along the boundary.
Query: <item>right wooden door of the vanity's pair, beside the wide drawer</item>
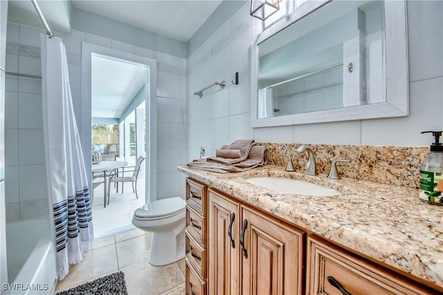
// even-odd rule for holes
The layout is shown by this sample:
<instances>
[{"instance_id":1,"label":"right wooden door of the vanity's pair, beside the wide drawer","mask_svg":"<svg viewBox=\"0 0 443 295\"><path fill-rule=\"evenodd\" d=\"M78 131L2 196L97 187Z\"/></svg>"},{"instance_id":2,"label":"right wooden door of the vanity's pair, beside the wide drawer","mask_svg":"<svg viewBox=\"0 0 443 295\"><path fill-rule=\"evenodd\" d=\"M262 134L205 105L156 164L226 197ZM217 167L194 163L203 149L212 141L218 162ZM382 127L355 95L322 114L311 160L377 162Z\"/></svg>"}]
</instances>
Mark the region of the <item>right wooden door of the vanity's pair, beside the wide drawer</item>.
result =
<instances>
[{"instance_id":1,"label":"right wooden door of the vanity's pair, beside the wide drawer","mask_svg":"<svg viewBox=\"0 0 443 295\"><path fill-rule=\"evenodd\" d=\"M302 294L302 231L242 206L242 294Z\"/></svg>"}]
</instances>

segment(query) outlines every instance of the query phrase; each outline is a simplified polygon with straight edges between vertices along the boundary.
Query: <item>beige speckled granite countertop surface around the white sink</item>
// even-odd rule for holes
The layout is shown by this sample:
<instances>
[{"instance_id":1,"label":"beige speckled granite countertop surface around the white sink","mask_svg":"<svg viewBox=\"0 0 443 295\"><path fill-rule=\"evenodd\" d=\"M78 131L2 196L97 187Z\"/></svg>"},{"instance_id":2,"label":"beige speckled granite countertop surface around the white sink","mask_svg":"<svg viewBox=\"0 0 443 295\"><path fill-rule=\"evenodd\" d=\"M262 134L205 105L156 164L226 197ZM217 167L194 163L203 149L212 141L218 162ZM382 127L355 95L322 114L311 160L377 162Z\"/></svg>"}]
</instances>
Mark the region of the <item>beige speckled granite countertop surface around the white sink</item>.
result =
<instances>
[{"instance_id":1,"label":"beige speckled granite countertop surface around the white sink","mask_svg":"<svg viewBox=\"0 0 443 295\"><path fill-rule=\"evenodd\" d=\"M419 199L417 189L326 175L310 176L266 165L215 173L181 165L182 173L260 207L319 236L443 287L443 206ZM245 182L277 176L307 180L341 196L279 193Z\"/></svg>"}]
</instances>

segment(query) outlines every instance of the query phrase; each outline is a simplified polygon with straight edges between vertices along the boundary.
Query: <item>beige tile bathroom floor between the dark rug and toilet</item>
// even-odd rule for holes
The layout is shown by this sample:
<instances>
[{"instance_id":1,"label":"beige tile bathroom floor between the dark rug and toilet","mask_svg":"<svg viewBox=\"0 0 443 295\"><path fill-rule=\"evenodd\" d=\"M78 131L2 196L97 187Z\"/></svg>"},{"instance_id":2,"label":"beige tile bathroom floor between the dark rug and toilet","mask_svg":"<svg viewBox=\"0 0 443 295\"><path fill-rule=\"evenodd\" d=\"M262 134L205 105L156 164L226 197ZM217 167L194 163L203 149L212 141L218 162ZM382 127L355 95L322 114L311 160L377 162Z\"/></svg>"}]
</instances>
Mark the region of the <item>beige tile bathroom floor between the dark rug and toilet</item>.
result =
<instances>
[{"instance_id":1,"label":"beige tile bathroom floor between the dark rug and toilet","mask_svg":"<svg viewBox=\"0 0 443 295\"><path fill-rule=\"evenodd\" d=\"M129 295L185 294L185 260L155 267L148 263L151 234L140 229L94 240L83 260L71 266L56 292L113 272L125 273Z\"/></svg>"}]
</instances>

